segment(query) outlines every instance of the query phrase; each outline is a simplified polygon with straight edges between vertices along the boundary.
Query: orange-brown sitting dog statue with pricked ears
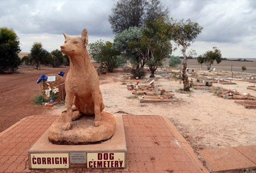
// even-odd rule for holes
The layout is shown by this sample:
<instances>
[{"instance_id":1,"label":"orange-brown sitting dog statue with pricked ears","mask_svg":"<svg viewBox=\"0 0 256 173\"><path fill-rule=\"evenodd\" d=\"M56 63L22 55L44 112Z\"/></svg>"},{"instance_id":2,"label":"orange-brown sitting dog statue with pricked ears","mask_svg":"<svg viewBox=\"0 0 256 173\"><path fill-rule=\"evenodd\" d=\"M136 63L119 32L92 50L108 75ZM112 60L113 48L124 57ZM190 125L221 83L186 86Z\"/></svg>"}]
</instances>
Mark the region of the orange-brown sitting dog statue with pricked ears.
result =
<instances>
[{"instance_id":1,"label":"orange-brown sitting dog statue with pricked ears","mask_svg":"<svg viewBox=\"0 0 256 173\"><path fill-rule=\"evenodd\" d=\"M63 130L71 128L72 120L76 120L83 114L95 114L94 126L99 126L101 112L105 108L97 71L89 60L87 52L87 29L83 29L81 37L69 37L63 33L65 44L61 45L61 52L69 56L70 70L65 82L67 116ZM79 114L73 115L72 104Z\"/></svg>"}]
</instances>

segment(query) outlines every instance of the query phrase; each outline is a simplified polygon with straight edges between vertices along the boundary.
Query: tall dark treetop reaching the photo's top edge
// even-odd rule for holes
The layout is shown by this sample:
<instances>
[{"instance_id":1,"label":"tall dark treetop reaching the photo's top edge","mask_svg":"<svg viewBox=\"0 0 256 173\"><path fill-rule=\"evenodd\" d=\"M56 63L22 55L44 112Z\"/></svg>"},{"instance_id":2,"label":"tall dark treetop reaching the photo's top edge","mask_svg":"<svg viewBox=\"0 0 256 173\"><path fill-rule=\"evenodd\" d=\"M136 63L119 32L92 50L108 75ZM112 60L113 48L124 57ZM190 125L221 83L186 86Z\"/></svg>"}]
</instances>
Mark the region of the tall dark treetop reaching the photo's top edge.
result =
<instances>
[{"instance_id":1,"label":"tall dark treetop reaching the photo's top edge","mask_svg":"<svg viewBox=\"0 0 256 173\"><path fill-rule=\"evenodd\" d=\"M109 23L113 33L121 33L129 27L145 27L146 21L156 21L168 13L159 0L119 0L109 15Z\"/></svg>"}]
</instances>

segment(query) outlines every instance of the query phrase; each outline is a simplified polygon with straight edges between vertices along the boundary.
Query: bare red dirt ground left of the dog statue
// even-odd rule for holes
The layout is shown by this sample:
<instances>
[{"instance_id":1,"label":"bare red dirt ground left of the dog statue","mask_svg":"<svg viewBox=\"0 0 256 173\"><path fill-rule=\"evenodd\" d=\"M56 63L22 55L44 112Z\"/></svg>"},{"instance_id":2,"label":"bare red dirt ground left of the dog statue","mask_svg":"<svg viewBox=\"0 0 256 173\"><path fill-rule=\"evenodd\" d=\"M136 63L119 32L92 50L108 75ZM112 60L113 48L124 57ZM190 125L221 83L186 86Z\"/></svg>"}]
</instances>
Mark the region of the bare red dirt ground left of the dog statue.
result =
<instances>
[{"instance_id":1,"label":"bare red dirt ground left of the dog statue","mask_svg":"<svg viewBox=\"0 0 256 173\"><path fill-rule=\"evenodd\" d=\"M51 108L33 104L33 97L41 93L37 79L41 74L67 72L69 67L42 67L19 69L20 74L0 75L0 132L26 116L46 114ZM65 76L64 76L65 77ZM28 94L29 91L29 94Z\"/></svg>"}]
</instances>

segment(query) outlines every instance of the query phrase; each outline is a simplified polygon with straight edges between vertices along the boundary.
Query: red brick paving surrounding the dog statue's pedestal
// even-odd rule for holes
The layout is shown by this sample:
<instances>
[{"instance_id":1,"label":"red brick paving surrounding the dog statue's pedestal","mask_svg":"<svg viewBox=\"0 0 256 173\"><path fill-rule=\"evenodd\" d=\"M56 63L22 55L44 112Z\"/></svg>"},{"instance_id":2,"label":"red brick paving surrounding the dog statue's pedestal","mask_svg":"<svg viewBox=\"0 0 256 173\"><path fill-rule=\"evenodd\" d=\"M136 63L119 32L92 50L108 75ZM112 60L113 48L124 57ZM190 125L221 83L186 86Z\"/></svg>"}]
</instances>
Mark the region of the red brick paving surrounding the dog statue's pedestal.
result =
<instances>
[{"instance_id":1,"label":"red brick paving surrounding the dog statue's pedestal","mask_svg":"<svg viewBox=\"0 0 256 173\"><path fill-rule=\"evenodd\" d=\"M0 172L29 170L28 150L57 116L29 116L0 134ZM208 172L193 149L162 116L124 115L127 142L125 169L49 169L43 172Z\"/></svg>"}]
</instances>

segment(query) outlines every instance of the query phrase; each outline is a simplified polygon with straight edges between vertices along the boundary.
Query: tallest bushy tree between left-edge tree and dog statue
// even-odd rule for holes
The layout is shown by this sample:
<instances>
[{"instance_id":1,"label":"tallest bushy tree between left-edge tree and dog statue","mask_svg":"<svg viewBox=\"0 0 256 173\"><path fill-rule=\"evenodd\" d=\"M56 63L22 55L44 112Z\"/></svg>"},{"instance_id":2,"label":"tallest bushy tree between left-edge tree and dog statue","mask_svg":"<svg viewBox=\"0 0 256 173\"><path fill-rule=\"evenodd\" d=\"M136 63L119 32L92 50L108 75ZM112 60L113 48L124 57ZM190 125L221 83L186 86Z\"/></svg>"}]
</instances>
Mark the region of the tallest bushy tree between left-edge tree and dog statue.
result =
<instances>
[{"instance_id":1,"label":"tallest bushy tree between left-edge tree and dog statue","mask_svg":"<svg viewBox=\"0 0 256 173\"><path fill-rule=\"evenodd\" d=\"M33 65L35 65L35 69L39 69L41 64L45 64L47 59L49 59L49 52L43 49L42 43L35 42L31 47L29 57Z\"/></svg>"}]
</instances>

